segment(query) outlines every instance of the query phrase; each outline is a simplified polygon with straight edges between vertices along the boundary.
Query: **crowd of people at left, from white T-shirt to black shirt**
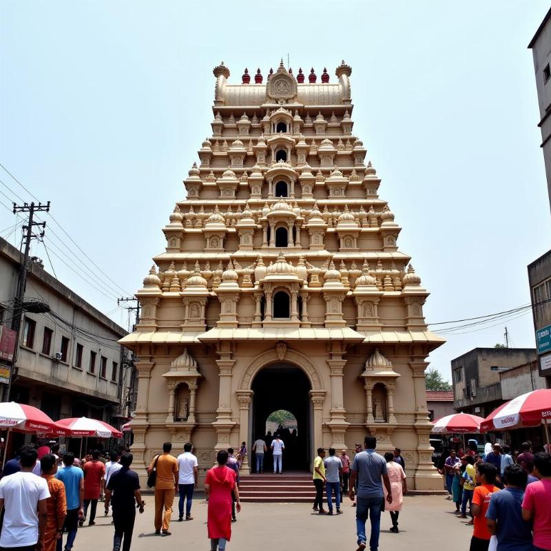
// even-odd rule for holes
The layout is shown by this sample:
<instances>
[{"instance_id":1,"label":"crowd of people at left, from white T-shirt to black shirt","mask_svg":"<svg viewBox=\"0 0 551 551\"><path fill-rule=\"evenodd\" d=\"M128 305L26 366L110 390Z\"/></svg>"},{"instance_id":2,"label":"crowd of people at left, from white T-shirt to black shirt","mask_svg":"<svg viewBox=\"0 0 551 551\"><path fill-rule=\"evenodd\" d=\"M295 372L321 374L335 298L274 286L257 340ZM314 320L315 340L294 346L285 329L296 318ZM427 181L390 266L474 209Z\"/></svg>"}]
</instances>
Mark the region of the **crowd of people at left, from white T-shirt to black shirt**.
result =
<instances>
[{"instance_id":1,"label":"crowd of people at left, from white T-shirt to black shirt","mask_svg":"<svg viewBox=\"0 0 551 551\"><path fill-rule=\"evenodd\" d=\"M25 444L2 470L0 548L71 551L88 510L88 526L94 526L98 500L105 497L105 515L110 506L113 514L113 550L121 550L124 536L123 551L128 551L134 501L143 512L138 475L130 470L131 464L128 452L112 452L107 461L92 450L79 460L71 452L60 456L56 443Z\"/></svg>"}]
</instances>

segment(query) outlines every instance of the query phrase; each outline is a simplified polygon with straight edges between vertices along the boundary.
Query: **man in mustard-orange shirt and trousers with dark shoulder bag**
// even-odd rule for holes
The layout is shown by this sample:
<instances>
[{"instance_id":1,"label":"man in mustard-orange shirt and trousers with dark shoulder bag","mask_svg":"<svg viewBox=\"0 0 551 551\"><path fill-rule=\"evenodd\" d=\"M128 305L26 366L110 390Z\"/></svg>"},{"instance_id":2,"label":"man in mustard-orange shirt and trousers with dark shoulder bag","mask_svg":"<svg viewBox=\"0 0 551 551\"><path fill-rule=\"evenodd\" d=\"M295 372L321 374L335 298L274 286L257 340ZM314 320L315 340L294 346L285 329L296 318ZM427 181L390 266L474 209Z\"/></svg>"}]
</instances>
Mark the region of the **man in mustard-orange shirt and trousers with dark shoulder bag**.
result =
<instances>
[{"instance_id":1,"label":"man in mustard-orange shirt and trousers with dark shoulder bag","mask_svg":"<svg viewBox=\"0 0 551 551\"><path fill-rule=\"evenodd\" d=\"M147 468L148 475L154 468L157 471L157 479L155 481L155 533L161 536L169 536L171 534L168 528L170 517L172 516L174 495L176 490L178 490L178 462L174 455L170 455L171 449L172 444L165 442L163 444L163 453L156 455ZM165 508L164 517L163 507Z\"/></svg>"}]
</instances>

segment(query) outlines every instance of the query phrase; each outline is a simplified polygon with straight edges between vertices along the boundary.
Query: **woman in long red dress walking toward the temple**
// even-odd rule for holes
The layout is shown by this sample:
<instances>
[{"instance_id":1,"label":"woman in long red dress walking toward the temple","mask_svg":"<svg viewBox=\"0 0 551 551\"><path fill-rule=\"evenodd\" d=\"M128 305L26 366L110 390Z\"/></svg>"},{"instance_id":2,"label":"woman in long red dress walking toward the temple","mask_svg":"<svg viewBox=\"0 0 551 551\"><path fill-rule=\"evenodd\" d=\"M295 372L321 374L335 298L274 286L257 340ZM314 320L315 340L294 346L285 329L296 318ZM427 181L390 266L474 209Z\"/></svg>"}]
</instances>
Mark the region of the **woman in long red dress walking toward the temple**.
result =
<instances>
[{"instance_id":1,"label":"woman in long red dress walking toward the temple","mask_svg":"<svg viewBox=\"0 0 551 551\"><path fill-rule=\"evenodd\" d=\"M231 539L232 494L236 498L237 511L241 510L236 472L227 468L228 453L220 450L216 455L218 465L207 471L205 497L209 500L207 530L211 540L211 551L224 551Z\"/></svg>"}]
</instances>

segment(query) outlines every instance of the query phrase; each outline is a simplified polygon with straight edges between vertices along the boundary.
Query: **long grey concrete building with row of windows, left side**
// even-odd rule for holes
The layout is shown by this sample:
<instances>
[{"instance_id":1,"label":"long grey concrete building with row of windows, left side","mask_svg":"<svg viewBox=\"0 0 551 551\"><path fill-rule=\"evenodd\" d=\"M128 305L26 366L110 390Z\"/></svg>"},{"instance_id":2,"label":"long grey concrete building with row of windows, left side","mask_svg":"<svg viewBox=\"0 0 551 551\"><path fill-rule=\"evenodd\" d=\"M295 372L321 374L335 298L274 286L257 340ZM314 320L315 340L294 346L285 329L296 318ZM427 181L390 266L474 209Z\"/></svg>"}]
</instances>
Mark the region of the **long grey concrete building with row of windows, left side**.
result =
<instances>
[{"instance_id":1,"label":"long grey concrete building with row of windows, left side","mask_svg":"<svg viewBox=\"0 0 551 551\"><path fill-rule=\"evenodd\" d=\"M0 238L0 315L10 325L17 291L21 255ZM12 377L10 399L40 408L52 419L94 417L120 425L129 386L123 366L123 347L118 340L127 334L94 306L31 260L25 301L39 300L49 313L23 315L19 355ZM1 361L4 374L12 366ZM7 380L3 380L6 384Z\"/></svg>"}]
</instances>

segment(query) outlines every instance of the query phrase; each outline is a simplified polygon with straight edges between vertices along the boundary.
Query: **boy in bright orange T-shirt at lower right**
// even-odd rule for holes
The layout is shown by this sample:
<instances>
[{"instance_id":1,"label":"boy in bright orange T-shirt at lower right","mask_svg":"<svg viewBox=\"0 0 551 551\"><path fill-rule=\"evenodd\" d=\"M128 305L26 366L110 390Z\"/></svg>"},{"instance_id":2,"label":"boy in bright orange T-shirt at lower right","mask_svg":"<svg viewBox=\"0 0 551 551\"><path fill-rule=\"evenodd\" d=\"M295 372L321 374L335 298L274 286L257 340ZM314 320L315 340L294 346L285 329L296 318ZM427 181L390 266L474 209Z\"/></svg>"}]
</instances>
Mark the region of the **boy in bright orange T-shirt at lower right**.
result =
<instances>
[{"instance_id":1,"label":"boy in bright orange T-shirt at lower right","mask_svg":"<svg viewBox=\"0 0 551 551\"><path fill-rule=\"evenodd\" d=\"M490 463L477 464L477 482L480 486L475 488L472 495L472 518L475 520L475 530L470 540L470 551L488 551L490 545L490 531L486 524L486 511L490 505L490 497L499 488L494 485L497 476L497 468Z\"/></svg>"}]
</instances>

